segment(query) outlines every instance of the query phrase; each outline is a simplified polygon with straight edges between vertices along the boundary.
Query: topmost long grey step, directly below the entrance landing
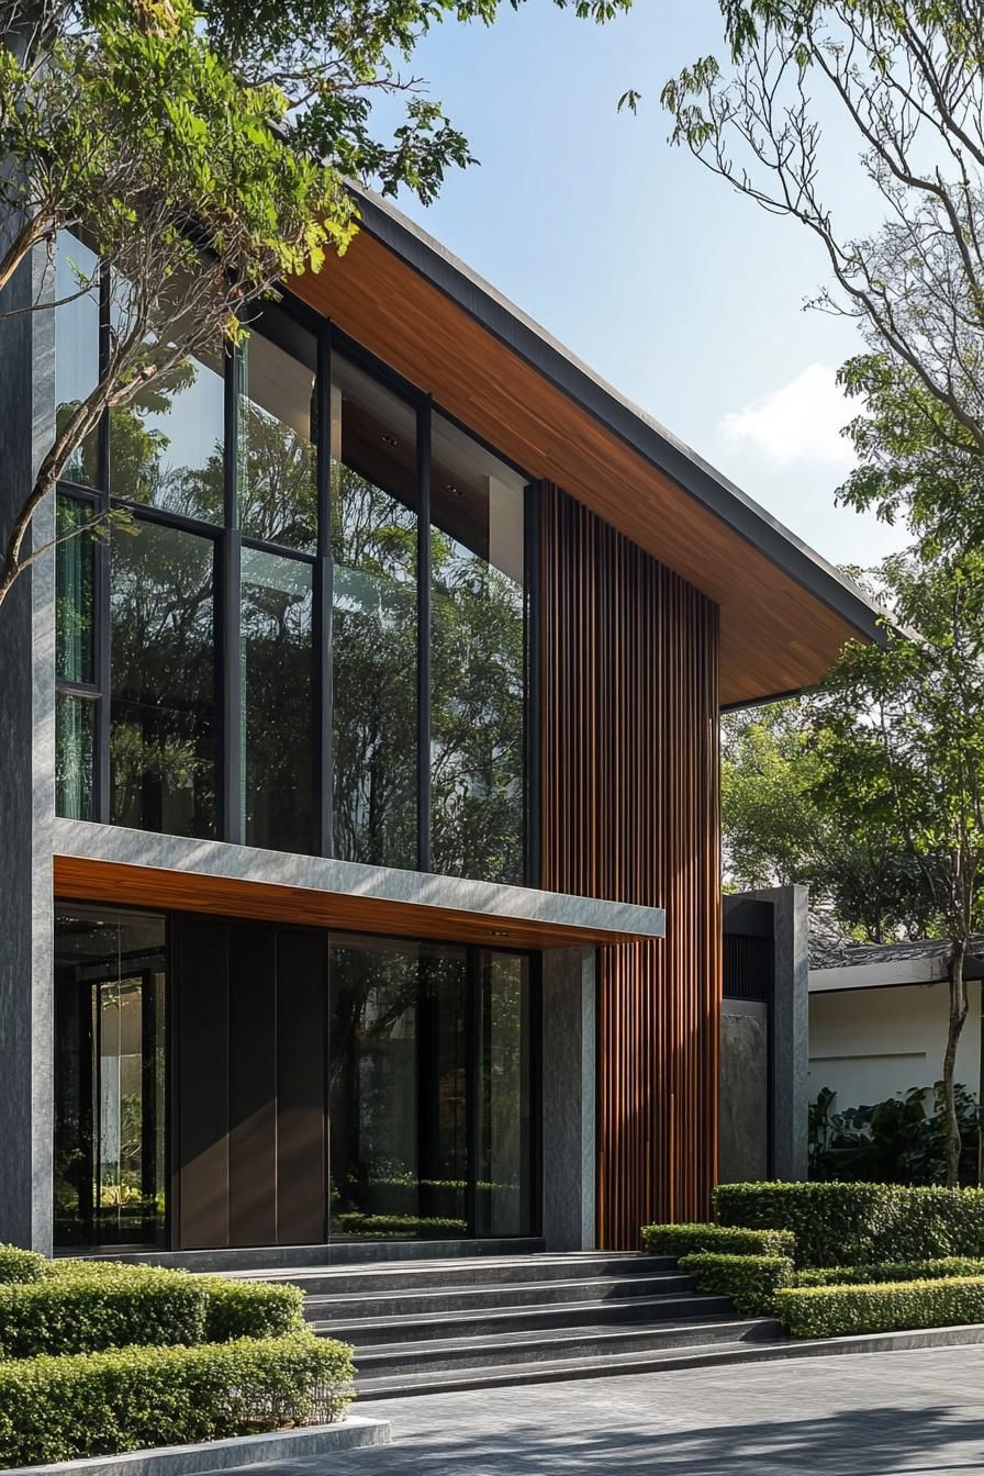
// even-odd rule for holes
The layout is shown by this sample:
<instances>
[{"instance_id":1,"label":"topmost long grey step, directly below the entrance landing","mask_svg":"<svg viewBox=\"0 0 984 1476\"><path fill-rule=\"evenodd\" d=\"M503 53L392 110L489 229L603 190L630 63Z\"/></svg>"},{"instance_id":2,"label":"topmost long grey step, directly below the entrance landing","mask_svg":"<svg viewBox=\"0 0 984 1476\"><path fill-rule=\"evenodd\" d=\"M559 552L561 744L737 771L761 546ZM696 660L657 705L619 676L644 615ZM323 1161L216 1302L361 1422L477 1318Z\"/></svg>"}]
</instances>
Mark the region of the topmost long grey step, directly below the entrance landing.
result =
<instances>
[{"instance_id":1,"label":"topmost long grey step, directly below the entrance landing","mask_svg":"<svg viewBox=\"0 0 984 1476\"><path fill-rule=\"evenodd\" d=\"M466 1286L507 1286L525 1281L574 1281L599 1277L665 1274L676 1269L671 1256L634 1252L575 1252L527 1256L453 1258L447 1261L373 1262L363 1266L289 1266L239 1272L238 1280L291 1281L308 1296L369 1296L392 1292L450 1290Z\"/></svg>"}]
</instances>

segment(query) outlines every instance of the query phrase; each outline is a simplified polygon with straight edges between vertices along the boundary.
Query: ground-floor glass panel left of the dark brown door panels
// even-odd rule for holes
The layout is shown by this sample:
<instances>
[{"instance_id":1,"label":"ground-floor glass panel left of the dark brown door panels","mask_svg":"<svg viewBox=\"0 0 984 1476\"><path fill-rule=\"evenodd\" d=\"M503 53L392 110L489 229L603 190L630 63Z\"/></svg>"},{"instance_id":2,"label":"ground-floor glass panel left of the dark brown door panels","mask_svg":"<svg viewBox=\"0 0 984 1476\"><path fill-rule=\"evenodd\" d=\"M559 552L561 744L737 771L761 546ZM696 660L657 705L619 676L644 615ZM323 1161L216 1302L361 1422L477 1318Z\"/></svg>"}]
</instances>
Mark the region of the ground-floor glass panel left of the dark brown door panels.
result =
<instances>
[{"instance_id":1,"label":"ground-floor glass panel left of the dark brown door panels","mask_svg":"<svg viewBox=\"0 0 984 1476\"><path fill-rule=\"evenodd\" d=\"M165 936L153 914L55 918L55 1243L164 1243Z\"/></svg>"}]
</instances>

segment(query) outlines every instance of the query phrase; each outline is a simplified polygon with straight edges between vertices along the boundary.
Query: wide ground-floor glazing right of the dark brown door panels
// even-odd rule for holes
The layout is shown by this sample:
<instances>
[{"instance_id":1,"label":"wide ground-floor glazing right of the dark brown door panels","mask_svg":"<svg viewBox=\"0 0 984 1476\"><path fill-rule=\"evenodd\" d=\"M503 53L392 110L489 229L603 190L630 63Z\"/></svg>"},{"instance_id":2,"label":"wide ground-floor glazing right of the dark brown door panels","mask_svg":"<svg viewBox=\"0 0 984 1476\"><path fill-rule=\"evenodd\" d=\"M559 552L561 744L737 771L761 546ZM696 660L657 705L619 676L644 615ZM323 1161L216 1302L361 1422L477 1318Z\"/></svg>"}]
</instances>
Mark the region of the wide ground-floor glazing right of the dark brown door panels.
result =
<instances>
[{"instance_id":1,"label":"wide ground-floor glazing right of the dark brown door panels","mask_svg":"<svg viewBox=\"0 0 984 1476\"><path fill-rule=\"evenodd\" d=\"M528 959L339 934L329 956L332 1240L531 1234Z\"/></svg>"}]
</instances>

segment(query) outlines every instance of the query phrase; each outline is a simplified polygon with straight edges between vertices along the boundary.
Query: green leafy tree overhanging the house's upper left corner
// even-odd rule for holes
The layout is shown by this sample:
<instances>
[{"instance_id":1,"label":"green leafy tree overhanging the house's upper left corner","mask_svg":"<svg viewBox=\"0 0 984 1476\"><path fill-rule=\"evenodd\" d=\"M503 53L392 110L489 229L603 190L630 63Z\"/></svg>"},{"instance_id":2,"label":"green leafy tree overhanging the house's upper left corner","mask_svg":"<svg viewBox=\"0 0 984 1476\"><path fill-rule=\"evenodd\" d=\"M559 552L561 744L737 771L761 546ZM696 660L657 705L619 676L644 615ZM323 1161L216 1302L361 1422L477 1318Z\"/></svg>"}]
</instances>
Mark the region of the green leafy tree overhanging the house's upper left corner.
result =
<instances>
[{"instance_id":1,"label":"green leafy tree overhanging the house's upper left corner","mask_svg":"<svg viewBox=\"0 0 984 1476\"><path fill-rule=\"evenodd\" d=\"M429 201L465 137L403 68L443 19L502 0L0 0L0 291L58 232L109 283L109 354L59 418L0 530L0 604L41 552L31 521L100 416L242 337L277 282L356 229L347 180ZM518 7L522 0L510 0ZM597 22L631 0L553 0ZM389 130L379 99L403 100ZM96 297L77 264L63 294ZM53 306L52 273L30 304Z\"/></svg>"}]
</instances>

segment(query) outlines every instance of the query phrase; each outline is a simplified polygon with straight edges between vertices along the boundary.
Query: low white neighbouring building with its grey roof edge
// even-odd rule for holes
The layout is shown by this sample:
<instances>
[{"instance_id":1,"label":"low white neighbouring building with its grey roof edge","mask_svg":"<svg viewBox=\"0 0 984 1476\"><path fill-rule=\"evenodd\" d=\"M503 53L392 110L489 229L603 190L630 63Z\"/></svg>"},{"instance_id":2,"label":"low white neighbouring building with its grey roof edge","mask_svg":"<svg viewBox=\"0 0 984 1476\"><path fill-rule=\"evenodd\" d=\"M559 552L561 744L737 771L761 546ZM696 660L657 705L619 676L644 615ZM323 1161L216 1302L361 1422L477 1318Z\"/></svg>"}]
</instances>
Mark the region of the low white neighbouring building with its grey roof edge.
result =
<instances>
[{"instance_id":1,"label":"low white neighbouring building with its grey roof edge","mask_svg":"<svg viewBox=\"0 0 984 1476\"><path fill-rule=\"evenodd\" d=\"M828 1088L834 1110L844 1111L904 1097L913 1086L931 1089L943 1076L947 1042L947 945L819 946L814 939L810 955L810 1097ZM966 979L956 1080L980 1101L984 949L969 953Z\"/></svg>"}]
</instances>

